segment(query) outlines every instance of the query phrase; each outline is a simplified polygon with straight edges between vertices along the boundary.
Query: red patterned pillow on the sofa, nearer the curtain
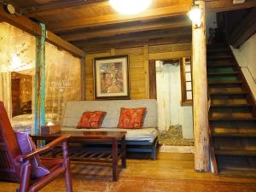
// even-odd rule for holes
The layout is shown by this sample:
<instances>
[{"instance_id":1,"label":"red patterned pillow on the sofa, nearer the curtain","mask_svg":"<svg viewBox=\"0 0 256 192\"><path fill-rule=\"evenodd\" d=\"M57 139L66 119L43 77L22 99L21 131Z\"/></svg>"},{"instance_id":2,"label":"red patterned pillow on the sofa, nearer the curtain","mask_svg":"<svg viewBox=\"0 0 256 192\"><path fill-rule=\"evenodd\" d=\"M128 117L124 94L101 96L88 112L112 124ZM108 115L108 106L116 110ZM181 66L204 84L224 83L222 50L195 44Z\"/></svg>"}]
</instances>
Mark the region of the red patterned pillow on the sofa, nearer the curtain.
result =
<instances>
[{"instance_id":1,"label":"red patterned pillow on the sofa, nearer the curtain","mask_svg":"<svg viewBox=\"0 0 256 192\"><path fill-rule=\"evenodd\" d=\"M104 111L86 111L82 114L77 128L98 129L107 112Z\"/></svg>"}]
</instances>

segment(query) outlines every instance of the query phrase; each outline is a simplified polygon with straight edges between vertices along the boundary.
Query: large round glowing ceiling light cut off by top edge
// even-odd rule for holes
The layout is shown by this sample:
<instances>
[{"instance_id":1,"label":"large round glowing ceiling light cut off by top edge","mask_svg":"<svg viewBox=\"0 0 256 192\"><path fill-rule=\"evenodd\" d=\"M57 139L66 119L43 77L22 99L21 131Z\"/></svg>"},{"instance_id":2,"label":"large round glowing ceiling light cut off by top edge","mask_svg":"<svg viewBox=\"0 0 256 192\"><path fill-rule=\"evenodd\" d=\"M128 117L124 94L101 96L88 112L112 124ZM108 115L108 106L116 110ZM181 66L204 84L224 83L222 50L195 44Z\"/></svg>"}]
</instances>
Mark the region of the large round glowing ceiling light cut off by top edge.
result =
<instances>
[{"instance_id":1,"label":"large round glowing ceiling light cut off by top edge","mask_svg":"<svg viewBox=\"0 0 256 192\"><path fill-rule=\"evenodd\" d=\"M109 3L120 14L135 15L147 9L151 0L109 0Z\"/></svg>"}]
</instances>

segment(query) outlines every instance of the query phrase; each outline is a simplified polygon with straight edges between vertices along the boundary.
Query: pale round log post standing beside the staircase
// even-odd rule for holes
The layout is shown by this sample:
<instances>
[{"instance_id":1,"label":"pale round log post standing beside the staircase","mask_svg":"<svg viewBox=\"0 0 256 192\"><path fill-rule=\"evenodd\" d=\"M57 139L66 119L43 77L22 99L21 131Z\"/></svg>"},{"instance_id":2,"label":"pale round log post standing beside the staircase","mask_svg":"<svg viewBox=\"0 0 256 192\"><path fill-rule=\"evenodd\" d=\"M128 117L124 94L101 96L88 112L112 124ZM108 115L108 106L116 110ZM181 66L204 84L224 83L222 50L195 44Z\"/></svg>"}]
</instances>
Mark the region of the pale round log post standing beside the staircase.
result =
<instances>
[{"instance_id":1,"label":"pale round log post standing beside the staircase","mask_svg":"<svg viewBox=\"0 0 256 192\"><path fill-rule=\"evenodd\" d=\"M195 1L201 9L201 26L192 23L193 51L193 117L195 140L195 170L209 171L209 133L207 108L207 50L205 2Z\"/></svg>"}]
</instances>

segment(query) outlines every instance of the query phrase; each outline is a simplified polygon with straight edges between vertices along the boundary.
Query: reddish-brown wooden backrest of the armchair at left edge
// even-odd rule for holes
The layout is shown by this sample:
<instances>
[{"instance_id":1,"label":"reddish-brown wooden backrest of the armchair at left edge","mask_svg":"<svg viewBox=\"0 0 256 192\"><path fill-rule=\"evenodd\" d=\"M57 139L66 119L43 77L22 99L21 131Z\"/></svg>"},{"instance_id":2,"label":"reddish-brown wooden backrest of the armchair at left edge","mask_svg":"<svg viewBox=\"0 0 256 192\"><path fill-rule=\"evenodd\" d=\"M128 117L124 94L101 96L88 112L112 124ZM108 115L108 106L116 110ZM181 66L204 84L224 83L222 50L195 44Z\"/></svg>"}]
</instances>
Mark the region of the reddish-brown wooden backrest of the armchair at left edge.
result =
<instances>
[{"instance_id":1,"label":"reddish-brown wooden backrest of the armchair at left edge","mask_svg":"<svg viewBox=\"0 0 256 192\"><path fill-rule=\"evenodd\" d=\"M15 132L3 102L0 102L0 180L20 182L20 164L15 162L15 158L20 154Z\"/></svg>"}]
</instances>

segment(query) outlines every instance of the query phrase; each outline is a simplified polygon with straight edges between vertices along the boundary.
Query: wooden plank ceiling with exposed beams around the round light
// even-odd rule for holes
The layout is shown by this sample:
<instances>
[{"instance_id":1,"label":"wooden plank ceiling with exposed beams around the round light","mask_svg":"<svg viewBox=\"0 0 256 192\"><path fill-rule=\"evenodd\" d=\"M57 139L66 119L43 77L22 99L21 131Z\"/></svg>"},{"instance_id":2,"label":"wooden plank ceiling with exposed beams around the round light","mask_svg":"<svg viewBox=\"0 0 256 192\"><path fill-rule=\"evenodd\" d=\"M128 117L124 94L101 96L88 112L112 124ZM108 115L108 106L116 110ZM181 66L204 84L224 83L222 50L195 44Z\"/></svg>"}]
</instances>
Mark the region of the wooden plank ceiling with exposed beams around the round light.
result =
<instances>
[{"instance_id":1,"label":"wooden plank ceiling with exposed beams around the round light","mask_svg":"<svg viewBox=\"0 0 256 192\"><path fill-rule=\"evenodd\" d=\"M174 44L191 41L186 13L191 0L152 0L139 15L119 15L108 0L9 0L19 14L44 22L49 31L84 49L95 52L143 44ZM207 2L207 11L255 7L256 0L234 5L233 0Z\"/></svg>"}]
</instances>

